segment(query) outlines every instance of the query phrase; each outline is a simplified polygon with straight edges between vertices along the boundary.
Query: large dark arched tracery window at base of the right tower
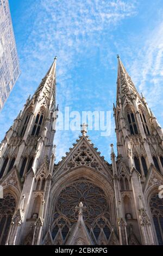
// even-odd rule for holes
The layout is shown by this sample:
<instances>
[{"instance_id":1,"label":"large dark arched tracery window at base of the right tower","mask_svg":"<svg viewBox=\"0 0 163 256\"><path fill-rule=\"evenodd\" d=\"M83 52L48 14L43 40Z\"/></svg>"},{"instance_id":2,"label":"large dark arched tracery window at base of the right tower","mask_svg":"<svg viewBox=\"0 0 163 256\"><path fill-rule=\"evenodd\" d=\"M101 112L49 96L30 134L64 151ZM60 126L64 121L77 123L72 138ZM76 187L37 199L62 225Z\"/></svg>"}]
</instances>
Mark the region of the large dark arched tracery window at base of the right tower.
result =
<instances>
[{"instance_id":1,"label":"large dark arched tracery window at base of the right tower","mask_svg":"<svg viewBox=\"0 0 163 256\"><path fill-rule=\"evenodd\" d=\"M151 198L150 208L159 245L163 245L163 207L158 194Z\"/></svg>"}]
</instances>

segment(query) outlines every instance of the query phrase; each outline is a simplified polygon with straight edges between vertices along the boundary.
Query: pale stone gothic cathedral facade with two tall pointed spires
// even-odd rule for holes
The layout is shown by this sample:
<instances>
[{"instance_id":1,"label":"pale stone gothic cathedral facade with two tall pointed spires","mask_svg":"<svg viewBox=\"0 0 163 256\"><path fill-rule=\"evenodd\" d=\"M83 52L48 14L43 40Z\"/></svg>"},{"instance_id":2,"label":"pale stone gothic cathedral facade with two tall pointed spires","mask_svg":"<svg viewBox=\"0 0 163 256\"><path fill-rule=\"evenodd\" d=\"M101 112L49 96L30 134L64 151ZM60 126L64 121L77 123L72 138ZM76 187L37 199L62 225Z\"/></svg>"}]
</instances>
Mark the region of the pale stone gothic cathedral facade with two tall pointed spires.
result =
<instances>
[{"instance_id":1,"label":"pale stone gothic cathedral facade with two tall pointed spires","mask_svg":"<svg viewBox=\"0 0 163 256\"><path fill-rule=\"evenodd\" d=\"M55 87L56 58L1 143L0 244L163 245L163 131L120 57L111 164L84 125L55 164Z\"/></svg>"}]
</instances>

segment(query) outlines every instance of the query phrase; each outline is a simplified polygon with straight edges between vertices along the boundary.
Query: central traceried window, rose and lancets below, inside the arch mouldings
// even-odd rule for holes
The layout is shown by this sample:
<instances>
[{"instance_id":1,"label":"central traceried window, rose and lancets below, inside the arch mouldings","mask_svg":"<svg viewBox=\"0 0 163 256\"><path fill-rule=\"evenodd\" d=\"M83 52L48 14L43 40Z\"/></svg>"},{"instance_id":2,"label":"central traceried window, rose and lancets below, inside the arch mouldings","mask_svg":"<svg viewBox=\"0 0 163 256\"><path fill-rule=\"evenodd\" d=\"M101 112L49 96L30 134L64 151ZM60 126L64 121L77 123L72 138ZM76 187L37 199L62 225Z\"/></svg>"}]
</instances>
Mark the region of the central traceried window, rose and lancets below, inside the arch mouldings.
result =
<instances>
[{"instance_id":1,"label":"central traceried window, rose and lancets below, inside the arch mouldings","mask_svg":"<svg viewBox=\"0 0 163 256\"><path fill-rule=\"evenodd\" d=\"M86 208L83 220L93 243L108 244L111 234L110 202L101 187L84 177L67 185L58 196L53 210L54 244L66 244L71 230L78 221L75 208L80 202Z\"/></svg>"}]
</instances>

